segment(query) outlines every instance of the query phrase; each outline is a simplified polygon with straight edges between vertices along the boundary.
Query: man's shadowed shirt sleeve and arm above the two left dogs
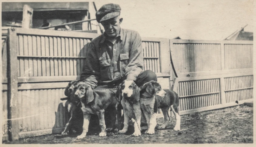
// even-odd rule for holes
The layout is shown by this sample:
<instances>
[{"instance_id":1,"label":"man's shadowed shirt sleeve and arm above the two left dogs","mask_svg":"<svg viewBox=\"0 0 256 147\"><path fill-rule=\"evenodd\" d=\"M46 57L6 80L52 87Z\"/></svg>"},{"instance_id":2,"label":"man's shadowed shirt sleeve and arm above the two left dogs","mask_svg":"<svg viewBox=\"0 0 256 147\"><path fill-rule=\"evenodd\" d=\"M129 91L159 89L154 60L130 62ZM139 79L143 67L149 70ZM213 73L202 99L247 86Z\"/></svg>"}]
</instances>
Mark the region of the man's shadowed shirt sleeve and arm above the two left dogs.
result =
<instances>
[{"instance_id":1,"label":"man's shadowed shirt sleeve and arm above the two left dogs","mask_svg":"<svg viewBox=\"0 0 256 147\"><path fill-rule=\"evenodd\" d=\"M87 57L84 62L80 81L90 85L92 89L97 87L97 80L100 76L100 65L98 62L95 46L90 43Z\"/></svg>"}]
</instances>

